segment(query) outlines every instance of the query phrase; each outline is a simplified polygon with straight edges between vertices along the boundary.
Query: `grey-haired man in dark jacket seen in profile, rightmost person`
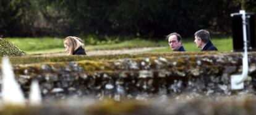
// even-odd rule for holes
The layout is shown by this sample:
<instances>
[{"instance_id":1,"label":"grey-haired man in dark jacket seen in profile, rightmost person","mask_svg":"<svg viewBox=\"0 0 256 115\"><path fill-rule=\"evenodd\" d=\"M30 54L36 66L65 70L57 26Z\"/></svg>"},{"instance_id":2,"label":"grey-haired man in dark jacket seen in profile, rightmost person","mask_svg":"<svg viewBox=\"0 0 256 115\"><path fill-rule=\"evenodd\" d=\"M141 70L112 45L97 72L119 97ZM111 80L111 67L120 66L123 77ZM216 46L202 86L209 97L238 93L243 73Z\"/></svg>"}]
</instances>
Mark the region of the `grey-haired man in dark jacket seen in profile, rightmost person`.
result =
<instances>
[{"instance_id":1,"label":"grey-haired man in dark jacket seen in profile, rightmost person","mask_svg":"<svg viewBox=\"0 0 256 115\"><path fill-rule=\"evenodd\" d=\"M195 32L195 45L201 48L201 51L218 51L218 49L211 43L210 33L207 30L198 30Z\"/></svg>"}]
</instances>

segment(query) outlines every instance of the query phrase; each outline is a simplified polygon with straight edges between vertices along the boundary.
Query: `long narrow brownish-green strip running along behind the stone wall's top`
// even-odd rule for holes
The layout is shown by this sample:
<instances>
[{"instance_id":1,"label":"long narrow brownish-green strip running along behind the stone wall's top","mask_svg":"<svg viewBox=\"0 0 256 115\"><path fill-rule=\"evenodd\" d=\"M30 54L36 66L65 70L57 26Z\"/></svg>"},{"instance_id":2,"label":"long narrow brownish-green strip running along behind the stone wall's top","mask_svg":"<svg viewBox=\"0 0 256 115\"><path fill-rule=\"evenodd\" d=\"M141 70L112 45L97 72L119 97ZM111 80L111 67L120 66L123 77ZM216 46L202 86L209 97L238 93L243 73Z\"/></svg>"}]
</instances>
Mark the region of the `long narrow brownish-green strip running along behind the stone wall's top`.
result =
<instances>
[{"instance_id":1,"label":"long narrow brownish-green strip running along behind the stone wall's top","mask_svg":"<svg viewBox=\"0 0 256 115\"><path fill-rule=\"evenodd\" d=\"M205 54L205 55L204 55ZM134 58L169 58L177 56L209 56L212 54L221 54L220 52L187 52L187 53L142 53L142 54L109 54L96 56L22 56L12 57L12 64L33 64L39 62L70 62L70 61L109 61L114 59L134 59ZM224 54L224 53L223 53Z\"/></svg>"}]
</instances>

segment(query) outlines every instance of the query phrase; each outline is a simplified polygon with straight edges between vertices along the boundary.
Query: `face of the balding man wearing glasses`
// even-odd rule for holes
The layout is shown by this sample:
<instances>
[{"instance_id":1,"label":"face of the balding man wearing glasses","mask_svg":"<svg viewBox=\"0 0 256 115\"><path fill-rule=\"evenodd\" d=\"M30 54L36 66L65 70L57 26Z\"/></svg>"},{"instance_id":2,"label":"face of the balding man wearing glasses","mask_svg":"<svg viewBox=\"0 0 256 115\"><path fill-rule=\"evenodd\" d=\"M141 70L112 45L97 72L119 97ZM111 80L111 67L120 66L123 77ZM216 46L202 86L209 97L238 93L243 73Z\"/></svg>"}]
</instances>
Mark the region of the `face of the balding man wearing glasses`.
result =
<instances>
[{"instance_id":1,"label":"face of the balding man wearing glasses","mask_svg":"<svg viewBox=\"0 0 256 115\"><path fill-rule=\"evenodd\" d=\"M169 36L168 43L169 43L170 48L173 51L177 51L179 48L181 48L181 41L177 40L177 36L176 35Z\"/></svg>"}]
</instances>

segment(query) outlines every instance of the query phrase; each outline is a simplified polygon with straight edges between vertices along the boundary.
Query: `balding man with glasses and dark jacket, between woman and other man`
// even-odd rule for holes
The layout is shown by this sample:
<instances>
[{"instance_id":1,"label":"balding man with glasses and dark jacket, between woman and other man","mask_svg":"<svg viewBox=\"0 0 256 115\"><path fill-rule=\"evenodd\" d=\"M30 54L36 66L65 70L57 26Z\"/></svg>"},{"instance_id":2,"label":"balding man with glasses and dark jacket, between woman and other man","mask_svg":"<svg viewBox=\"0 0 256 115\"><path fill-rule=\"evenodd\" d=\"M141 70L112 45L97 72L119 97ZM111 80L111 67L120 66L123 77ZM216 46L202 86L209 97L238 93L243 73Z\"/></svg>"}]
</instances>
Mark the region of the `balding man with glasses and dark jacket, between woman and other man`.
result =
<instances>
[{"instance_id":1,"label":"balding man with glasses and dark jacket, between woman and other man","mask_svg":"<svg viewBox=\"0 0 256 115\"><path fill-rule=\"evenodd\" d=\"M170 48L173 51L186 51L182 46L181 35L178 33L170 33L167 37Z\"/></svg>"}]
</instances>

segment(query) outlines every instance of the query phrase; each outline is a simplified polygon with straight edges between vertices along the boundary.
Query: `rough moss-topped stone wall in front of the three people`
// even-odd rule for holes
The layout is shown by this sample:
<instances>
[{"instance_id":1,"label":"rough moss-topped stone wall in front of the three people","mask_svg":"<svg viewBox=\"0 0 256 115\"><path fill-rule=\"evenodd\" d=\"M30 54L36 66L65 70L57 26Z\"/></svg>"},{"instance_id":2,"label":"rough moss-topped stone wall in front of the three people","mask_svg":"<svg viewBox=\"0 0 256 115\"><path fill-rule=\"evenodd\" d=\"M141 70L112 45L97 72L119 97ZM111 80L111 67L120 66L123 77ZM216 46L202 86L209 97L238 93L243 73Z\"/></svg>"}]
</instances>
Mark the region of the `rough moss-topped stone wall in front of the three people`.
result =
<instances>
[{"instance_id":1,"label":"rough moss-topped stone wall in front of the three people","mask_svg":"<svg viewBox=\"0 0 256 115\"><path fill-rule=\"evenodd\" d=\"M99 61L14 65L25 95L37 79L44 98L68 96L147 98L196 92L207 96L255 93L256 54L249 54L249 79L233 91L230 75L242 73L239 53L152 56Z\"/></svg>"}]
</instances>

